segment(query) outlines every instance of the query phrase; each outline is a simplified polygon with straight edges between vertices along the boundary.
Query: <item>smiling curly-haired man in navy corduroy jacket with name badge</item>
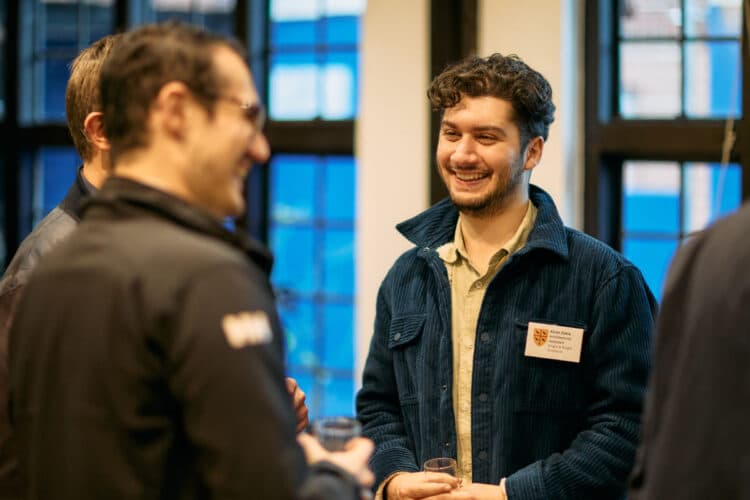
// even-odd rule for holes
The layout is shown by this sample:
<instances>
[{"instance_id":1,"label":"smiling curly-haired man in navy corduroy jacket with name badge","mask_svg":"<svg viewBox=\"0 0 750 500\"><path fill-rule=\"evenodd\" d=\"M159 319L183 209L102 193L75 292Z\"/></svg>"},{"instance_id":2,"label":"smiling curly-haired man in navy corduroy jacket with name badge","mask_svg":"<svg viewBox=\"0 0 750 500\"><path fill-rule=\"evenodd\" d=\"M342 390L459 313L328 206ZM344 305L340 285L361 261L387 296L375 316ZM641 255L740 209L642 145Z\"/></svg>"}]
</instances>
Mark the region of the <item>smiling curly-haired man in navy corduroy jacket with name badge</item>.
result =
<instances>
[{"instance_id":1,"label":"smiling curly-haired man in navy corduroy jacket with name badge","mask_svg":"<svg viewBox=\"0 0 750 500\"><path fill-rule=\"evenodd\" d=\"M516 56L447 68L437 164L450 199L401 223L357 395L390 500L621 499L656 309L641 273L565 227L529 183L555 106ZM458 477L415 473L430 458Z\"/></svg>"}]
</instances>

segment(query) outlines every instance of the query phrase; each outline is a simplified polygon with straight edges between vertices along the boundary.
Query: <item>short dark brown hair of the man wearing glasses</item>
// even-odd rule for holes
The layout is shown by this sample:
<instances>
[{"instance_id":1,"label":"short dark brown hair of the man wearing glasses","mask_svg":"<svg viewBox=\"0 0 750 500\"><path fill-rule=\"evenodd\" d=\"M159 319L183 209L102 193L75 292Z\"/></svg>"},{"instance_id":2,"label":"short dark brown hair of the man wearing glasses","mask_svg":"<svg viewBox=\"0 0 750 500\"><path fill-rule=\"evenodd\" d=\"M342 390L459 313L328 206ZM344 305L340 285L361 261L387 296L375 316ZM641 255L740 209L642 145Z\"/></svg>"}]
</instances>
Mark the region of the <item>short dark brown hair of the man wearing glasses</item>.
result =
<instances>
[{"instance_id":1,"label":"short dark brown hair of the man wearing glasses","mask_svg":"<svg viewBox=\"0 0 750 500\"><path fill-rule=\"evenodd\" d=\"M100 82L113 163L148 144L149 109L166 83L184 83L213 112L224 83L212 62L219 47L245 59L235 40L176 21L141 26L123 36L104 64Z\"/></svg>"}]
</instances>

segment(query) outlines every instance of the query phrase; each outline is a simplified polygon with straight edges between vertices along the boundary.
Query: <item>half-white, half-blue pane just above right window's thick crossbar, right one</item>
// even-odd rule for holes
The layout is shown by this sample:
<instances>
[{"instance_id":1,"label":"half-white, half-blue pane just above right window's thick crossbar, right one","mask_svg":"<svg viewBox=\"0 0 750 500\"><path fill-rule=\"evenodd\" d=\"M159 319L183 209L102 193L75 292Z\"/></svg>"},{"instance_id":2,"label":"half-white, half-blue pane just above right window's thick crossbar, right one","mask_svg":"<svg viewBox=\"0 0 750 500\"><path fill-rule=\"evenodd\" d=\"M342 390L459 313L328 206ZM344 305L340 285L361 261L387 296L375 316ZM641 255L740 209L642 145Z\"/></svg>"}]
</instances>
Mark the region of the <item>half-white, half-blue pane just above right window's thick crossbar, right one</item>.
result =
<instances>
[{"instance_id":1,"label":"half-white, half-blue pane just above right window's thick crossbar, right one","mask_svg":"<svg viewBox=\"0 0 750 500\"><path fill-rule=\"evenodd\" d=\"M690 118L739 116L739 42L685 43L685 113Z\"/></svg>"}]
</instances>

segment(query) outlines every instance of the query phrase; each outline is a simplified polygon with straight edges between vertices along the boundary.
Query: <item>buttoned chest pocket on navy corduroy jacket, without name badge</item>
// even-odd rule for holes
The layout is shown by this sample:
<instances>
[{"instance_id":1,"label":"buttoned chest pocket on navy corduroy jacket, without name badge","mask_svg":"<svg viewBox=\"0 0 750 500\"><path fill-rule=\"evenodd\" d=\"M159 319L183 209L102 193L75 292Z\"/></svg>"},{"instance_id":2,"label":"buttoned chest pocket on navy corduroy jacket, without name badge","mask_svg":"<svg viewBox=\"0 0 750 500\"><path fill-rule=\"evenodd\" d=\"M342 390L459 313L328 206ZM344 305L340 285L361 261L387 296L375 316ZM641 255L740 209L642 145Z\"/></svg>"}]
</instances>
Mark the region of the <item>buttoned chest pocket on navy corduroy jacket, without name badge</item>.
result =
<instances>
[{"instance_id":1,"label":"buttoned chest pocket on navy corduroy jacket, without name badge","mask_svg":"<svg viewBox=\"0 0 750 500\"><path fill-rule=\"evenodd\" d=\"M417 390L421 385L417 376L423 362L420 340L424 324L424 314L397 316L391 320L388 349L393 355L393 371L402 403L417 400Z\"/></svg>"}]
</instances>

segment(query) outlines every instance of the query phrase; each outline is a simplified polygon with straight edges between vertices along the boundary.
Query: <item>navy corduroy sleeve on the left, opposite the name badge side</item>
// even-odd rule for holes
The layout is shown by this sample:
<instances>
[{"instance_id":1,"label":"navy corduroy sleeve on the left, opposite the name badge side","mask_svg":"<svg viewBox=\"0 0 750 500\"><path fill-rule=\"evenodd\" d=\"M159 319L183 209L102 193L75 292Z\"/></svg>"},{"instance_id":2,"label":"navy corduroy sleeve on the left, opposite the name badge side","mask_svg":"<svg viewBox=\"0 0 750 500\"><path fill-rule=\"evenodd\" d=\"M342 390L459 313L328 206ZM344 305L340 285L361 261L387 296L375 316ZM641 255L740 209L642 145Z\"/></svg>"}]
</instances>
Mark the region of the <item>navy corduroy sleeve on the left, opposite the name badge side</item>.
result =
<instances>
[{"instance_id":1,"label":"navy corduroy sleeve on the left, opposite the name badge side","mask_svg":"<svg viewBox=\"0 0 750 500\"><path fill-rule=\"evenodd\" d=\"M386 278L378 292L375 331L362 375L362 388L357 394L357 418L362 422L363 434L376 446L370 460L376 485L394 472L419 470L412 451L414 445L406 434L401 416L393 353L388 348L390 323Z\"/></svg>"}]
</instances>

